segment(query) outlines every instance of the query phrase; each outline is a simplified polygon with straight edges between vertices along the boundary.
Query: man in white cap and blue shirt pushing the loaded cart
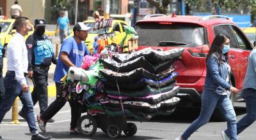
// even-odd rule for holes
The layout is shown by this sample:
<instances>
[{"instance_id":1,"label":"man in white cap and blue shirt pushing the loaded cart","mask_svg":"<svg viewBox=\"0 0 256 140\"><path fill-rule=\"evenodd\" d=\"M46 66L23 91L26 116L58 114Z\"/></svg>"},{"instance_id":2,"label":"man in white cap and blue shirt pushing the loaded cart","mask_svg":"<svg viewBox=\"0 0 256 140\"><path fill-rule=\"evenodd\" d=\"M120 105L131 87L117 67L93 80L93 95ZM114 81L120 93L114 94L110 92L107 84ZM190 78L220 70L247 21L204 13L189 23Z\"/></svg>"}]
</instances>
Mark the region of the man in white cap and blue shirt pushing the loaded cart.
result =
<instances>
[{"instance_id":1,"label":"man in white cap and blue shirt pushing the loaded cart","mask_svg":"<svg viewBox=\"0 0 256 140\"><path fill-rule=\"evenodd\" d=\"M83 57L85 55L90 55L90 52L84 43L84 40L86 40L88 36L87 31L90 28L91 27L84 25L83 22L78 22L74 25L74 36L65 39L61 45L60 55L58 57L53 78L56 84L57 97L41 115L37 115L38 125L43 132L46 131L45 126L47 120L56 115L56 113L58 113L58 111L60 111L67 102L67 98L63 96L63 87L61 86L60 81L61 78L67 74L69 67L81 67ZM70 134L76 134L77 120L80 118L81 113L77 111L76 104L74 102L69 103L71 107Z\"/></svg>"}]
</instances>

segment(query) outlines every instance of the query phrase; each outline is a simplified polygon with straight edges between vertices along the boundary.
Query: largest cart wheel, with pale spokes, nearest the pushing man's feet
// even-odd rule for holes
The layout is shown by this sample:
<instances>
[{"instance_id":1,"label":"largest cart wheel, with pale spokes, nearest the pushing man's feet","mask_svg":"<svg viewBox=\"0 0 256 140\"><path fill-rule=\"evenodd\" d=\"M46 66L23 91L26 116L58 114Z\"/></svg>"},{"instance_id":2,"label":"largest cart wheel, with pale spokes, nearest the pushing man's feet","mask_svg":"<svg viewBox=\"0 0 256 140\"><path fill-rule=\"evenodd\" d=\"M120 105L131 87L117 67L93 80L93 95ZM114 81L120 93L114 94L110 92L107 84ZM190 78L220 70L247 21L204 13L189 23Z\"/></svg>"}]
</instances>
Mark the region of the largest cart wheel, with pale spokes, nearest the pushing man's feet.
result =
<instances>
[{"instance_id":1,"label":"largest cart wheel, with pale spokes, nearest the pushing man's feet","mask_svg":"<svg viewBox=\"0 0 256 140\"><path fill-rule=\"evenodd\" d=\"M85 137L93 136L97 130L97 122L92 116L81 116L77 122L77 130Z\"/></svg>"}]
</instances>

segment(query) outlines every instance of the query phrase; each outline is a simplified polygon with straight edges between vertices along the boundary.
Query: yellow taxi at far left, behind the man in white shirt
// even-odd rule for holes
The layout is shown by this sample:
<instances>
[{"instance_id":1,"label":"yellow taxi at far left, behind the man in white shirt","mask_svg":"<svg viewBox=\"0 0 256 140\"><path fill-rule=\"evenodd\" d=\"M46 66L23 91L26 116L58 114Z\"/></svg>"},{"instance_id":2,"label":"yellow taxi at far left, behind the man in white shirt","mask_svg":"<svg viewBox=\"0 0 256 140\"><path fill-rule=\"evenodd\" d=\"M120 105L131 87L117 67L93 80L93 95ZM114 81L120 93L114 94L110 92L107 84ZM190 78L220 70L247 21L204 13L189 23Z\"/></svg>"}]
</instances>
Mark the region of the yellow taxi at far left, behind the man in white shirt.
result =
<instances>
[{"instance_id":1,"label":"yellow taxi at far left, behind the man in white shirt","mask_svg":"<svg viewBox=\"0 0 256 140\"><path fill-rule=\"evenodd\" d=\"M13 29L15 19L6 19L0 20L0 26L2 27L0 33L0 39L3 46L8 45L9 41L12 39L13 35L15 34L16 30ZM33 34L34 27L31 24L31 30L28 32L28 35L25 38L28 38L30 34Z\"/></svg>"}]
</instances>

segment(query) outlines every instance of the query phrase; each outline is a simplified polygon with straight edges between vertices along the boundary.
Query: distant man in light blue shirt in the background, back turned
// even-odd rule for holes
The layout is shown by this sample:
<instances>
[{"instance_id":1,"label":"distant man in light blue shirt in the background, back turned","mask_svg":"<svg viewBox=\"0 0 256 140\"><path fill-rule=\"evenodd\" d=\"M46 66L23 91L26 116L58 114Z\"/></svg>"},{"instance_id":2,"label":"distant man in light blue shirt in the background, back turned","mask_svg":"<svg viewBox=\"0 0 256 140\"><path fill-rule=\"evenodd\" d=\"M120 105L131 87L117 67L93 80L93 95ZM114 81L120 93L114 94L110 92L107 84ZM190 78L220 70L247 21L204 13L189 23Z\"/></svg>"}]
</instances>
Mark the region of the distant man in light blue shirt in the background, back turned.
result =
<instances>
[{"instance_id":1,"label":"distant man in light blue shirt in the background, back turned","mask_svg":"<svg viewBox=\"0 0 256 140\"><path fill-rule=\"evenodd\" d=\"M60 17L57 20L56 31L58 31L58 29L60 34L60 43L63 43L63 40L67 37L70 31L70 24L68 17L65 16L65 11L61 11Z\"/></svg>"}]
</instances>

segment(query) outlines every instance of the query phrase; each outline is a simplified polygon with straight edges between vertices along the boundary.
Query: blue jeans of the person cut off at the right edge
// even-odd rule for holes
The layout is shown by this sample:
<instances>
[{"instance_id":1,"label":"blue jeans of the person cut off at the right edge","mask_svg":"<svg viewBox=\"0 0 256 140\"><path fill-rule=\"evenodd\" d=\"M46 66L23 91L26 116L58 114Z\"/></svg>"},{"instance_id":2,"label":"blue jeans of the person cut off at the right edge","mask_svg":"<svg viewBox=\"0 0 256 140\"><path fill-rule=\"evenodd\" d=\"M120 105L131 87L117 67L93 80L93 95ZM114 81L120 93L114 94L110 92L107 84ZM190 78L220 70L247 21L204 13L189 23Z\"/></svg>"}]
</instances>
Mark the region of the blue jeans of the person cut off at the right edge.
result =
<instances>
[{"instance_id":1,"label":"blue jeans of the person cut off at the right edge","mask_svg":"<svg viewBox=\"0 0 256 140\"><path fill-rule=\"evenodd\" d=\"M243 90L242 96L245 99L247 114L237 122L237 135L252 125L256 120L256 90L253 88L246 88ZM225 133L230 137L228 130L225 130Z\"/></svg>"}]
</instances>

